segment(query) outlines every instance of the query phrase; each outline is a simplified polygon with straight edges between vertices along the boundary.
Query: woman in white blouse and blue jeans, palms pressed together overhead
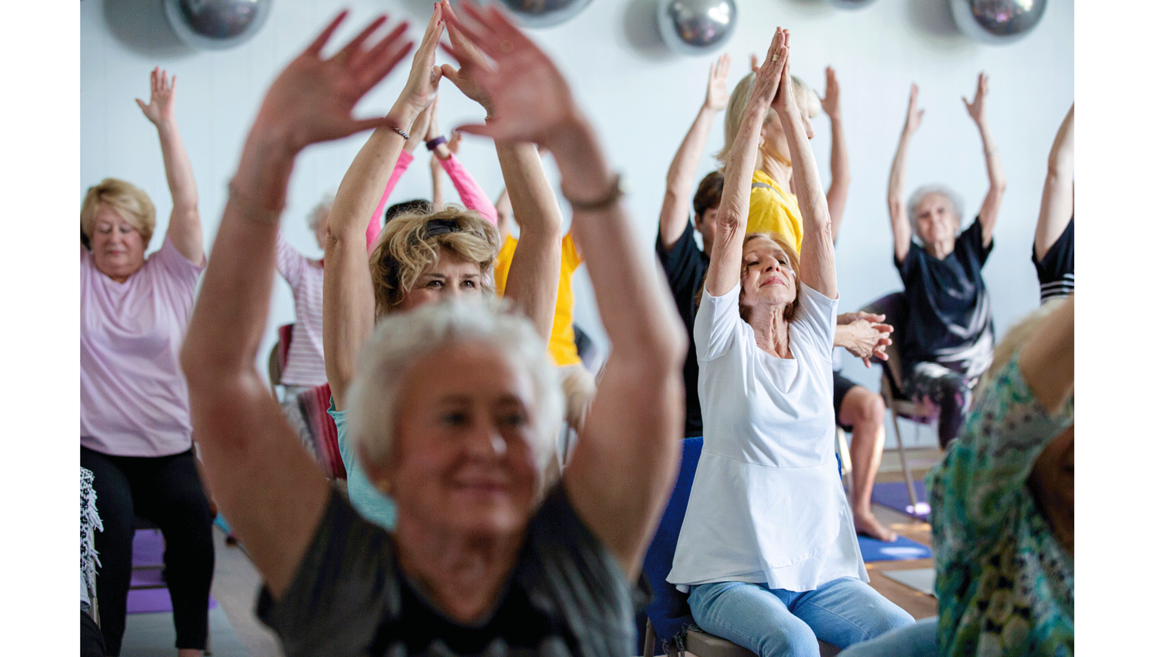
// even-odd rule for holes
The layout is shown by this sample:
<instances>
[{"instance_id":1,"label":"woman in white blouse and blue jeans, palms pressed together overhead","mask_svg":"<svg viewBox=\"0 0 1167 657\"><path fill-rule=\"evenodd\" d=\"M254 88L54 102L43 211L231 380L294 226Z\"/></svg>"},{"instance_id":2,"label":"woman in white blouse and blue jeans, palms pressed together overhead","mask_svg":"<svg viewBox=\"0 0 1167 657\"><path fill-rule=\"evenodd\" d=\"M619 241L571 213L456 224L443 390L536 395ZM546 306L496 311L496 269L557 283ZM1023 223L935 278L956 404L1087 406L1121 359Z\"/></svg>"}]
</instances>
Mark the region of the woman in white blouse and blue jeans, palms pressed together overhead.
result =
<instances>
[{"instance_id":1,"label":"woman in white blouse and blue jeans, palms pressed together overhead","mask_svg":"<svg viewBox=\"0 0 1167 657\"><path fill-rule=\"evenodd\" d=\"M705 446L669 574L698 625L761 657L818 655L816 637L846 648L914 623L865 583L834 460L834 250L788 40L778 28L726 168L693 327ZM790 140L801 253L746 232L769 107Z\"/></svg>"}]
</instances>

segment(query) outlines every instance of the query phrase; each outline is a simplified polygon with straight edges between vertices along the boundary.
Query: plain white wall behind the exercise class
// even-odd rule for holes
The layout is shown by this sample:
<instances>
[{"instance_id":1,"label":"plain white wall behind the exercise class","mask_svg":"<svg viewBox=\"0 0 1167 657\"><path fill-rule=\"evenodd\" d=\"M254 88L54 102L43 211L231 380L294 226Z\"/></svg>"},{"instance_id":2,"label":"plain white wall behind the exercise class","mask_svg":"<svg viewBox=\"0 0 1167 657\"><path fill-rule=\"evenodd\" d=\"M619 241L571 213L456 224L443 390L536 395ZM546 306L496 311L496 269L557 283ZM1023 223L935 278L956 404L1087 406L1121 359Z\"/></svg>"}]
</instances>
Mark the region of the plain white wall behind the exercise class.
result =
<instances>
[{"instance_id":1,"label":"plain white wall behind the exercise class","mask_svg":"<svg viewBox=\"0 0 1167 657\"><path fill-rule=\"evenodd\" d=\"M341 42L373 13L389 11L412 20L420 36L425 0L279 0L264 29L249 43L225 53L195 53L177 43L165 23L159 0L83 0L81 2L82 170L79 194L102 177L118 176L144 187L159 208L161 243L169 214L166 179L155 133L133 98L147 98L148 72L166 67L179 76L177 119L200 186L204 233L211 244L244 133L268 82L342 6L352 15ZM663 49L654 33L654 0L593 0L572 21L532 32L559 63L576 98L599 127L613 162L631 190L629 207L644 249L656 237L664 174L701 102L714 55L680 57ZM852 187L838 245L841 307L853 309L901 289L892 266L886 211L888 165L903 123L908 88L921 85L923 127L908 166L908 191L943 181L965 197L967 219L987 187L984 156L972 121L960 103L980 70L992 76L990 125L1008 180L997 229L997 246L985 268L998 333L1037 302L1029 247L1041 197L1046 156L1054 133L1074 100L1074 4L1049 2L1041 25L1007 47L980 46L956 32L945 0L880 0L859 12L831 8L822 0L738 0L739 23L727 50L732 83L745 75L749 53L764 54L774 27L794 36L795 72L822 89L823 68L836 67L844 99L851 152ZM365 116L392 104L407 74L400 65L358 107ZM442 86L445 126L481 117L475 105L448 82ZM824 179L830 148L827 119L816 123L815 153ZM306 253L317 254L305 224L312 205L335 189L363 144L357 135L306 151L293 174L285 231ZM469 140L468 140L469 141ZM707 152L721 146L714 128ZM425 154L420 152L419 154ZM461 155L490 194L502 186L492 148L477 141ZM424 158L406 173L393 201L427 197ZM713 168L712 156L701 175ZM447 183L447 197L453 189ZM578 321L599 333L586 274L575 277ZM282 284L273 295L266 345L274 327L293 319L291 293ZM602 344L602 338L601 338ZM266 351L261 354L265 356ZM846 371L876 384L847 357Z\"/></svg>"}]
</instances>

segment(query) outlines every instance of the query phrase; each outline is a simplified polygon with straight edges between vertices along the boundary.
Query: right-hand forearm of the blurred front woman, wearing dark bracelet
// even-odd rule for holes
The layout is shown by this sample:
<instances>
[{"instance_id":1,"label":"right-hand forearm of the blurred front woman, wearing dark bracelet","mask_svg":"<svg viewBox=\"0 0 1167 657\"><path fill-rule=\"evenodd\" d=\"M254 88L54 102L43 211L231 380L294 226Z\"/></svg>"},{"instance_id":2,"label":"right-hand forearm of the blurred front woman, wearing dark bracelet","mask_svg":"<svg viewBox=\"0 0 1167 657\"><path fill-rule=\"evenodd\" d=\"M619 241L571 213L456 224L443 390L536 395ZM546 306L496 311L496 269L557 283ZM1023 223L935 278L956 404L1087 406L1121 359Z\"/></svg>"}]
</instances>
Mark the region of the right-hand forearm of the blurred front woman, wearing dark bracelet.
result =
<instances>
[{"instance_id":1,"label":"right-hand forearm of the blurred front woman, wearing dark bracelet","mask_svg":"<svg viewBox=\"0 0 1167 657\"><path fill-rule=\"evenodd\" d=\"M548 146L562 172L565 196L588 201L612 189L615 175L586 120L573 121ZM623 204L574 211L572 237L588 263L613 355L654 368L670 366L678 351L683 357L684 333L672 298L656 260L645 258L637 244Z\"/></svg>"}]
</instances>

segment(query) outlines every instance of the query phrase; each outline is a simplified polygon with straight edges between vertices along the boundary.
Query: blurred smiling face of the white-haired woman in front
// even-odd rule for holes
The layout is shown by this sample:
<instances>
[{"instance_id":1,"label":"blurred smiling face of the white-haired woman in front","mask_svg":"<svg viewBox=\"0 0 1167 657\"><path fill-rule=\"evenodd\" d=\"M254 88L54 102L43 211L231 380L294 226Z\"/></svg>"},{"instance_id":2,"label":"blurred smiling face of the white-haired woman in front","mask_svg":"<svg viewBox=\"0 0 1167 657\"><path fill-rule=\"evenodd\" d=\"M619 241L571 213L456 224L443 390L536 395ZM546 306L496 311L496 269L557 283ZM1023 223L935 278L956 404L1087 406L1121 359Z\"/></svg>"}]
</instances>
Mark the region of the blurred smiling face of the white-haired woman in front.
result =
<instances>
[{"instance_id":1,"label":"blurred smiling face of the white-haired woman in front","mask_svg":"<svg viewBox=\"0 0 1167 657\"><path fill-rule=\"evenodd\" d=\"M386 482L404 522L434 531L522 530L538 501L538 428L530 375L497 347L450 343L400 382Z\"/></svg>"}]
</instances>

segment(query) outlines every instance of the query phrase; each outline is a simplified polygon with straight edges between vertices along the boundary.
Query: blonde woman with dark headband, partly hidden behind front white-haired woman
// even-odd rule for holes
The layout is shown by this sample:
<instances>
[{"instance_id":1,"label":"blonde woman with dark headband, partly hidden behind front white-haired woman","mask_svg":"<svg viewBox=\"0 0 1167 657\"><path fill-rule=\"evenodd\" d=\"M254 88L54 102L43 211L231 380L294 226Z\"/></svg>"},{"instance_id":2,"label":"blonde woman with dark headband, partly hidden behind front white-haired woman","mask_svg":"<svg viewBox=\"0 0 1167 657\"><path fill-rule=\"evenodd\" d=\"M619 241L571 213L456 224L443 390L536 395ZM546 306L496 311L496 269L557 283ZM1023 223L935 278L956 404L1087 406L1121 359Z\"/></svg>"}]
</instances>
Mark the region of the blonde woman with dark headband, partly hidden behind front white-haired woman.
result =
<instances>
[{"instance_id":1,"label":"blonde woman with dark headband, partly hidden behind front white-haired woman","mask_svg":"<svg viewBox=\"0 0 1167 657\"><path fill-rule=\"evenodd\" d=\"M383 482L375 482L357 457L349 432L348 392L355 376L361 344L375 322L442 299L481 299L490 294L490 272L498 258L499 240L494 209L480 211L447 205L434 214L400 215L382 232L372 252L365 250L365 225L376 216L378 198L398 161L405 137L399 126L415 123L438 91L440 69L434 67L438 41L446 26L435 6L421 44L413 57L408 81L389 112L391 126L373 131L357 153L336 193L329 214L329 242L324 251L324 364L333 394L329 413L336 421L337 442L348 471L352 506L386 530L393 527L396 509ZM453 11L449 11L453 18ZM454 19L456 20L456 18ZM464 54L456 28L450 40ZM480 55L481 57L481 55ZM489 98L470 81L461 81L469 96L492 112ZM515 285L506 296L534 322L540 335L551 333L559 277L559 230L562 218L554 190L543 173L533 144L499 144L503 179L516 189L515 217L523 228L516 247ZM489 205L489 202L487 202ZM370 275L371 274L371 275Z\"/></svg>"}]
</instances>

